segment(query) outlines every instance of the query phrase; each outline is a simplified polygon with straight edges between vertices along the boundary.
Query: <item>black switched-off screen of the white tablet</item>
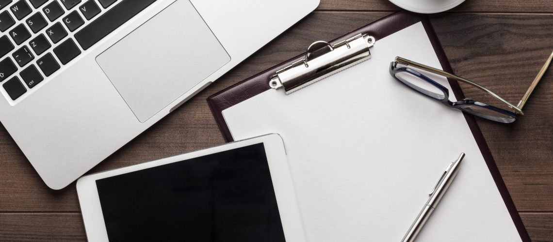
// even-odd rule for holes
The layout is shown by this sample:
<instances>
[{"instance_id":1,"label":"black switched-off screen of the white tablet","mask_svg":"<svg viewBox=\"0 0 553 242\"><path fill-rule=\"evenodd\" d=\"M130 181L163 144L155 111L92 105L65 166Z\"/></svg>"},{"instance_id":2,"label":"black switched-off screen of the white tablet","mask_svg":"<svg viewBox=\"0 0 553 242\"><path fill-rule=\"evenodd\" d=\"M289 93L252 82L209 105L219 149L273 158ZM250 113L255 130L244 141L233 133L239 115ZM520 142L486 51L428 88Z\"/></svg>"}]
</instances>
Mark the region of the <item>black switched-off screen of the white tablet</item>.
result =
<instances>
[{"instance_id":1,"label":"black switched-off screen of the white tablet","mask_svg":"<svg viewBox=\"0 0 553 242\"><path fill-rule=\"evenodd\" d=\"M284 241L263 143L96 181L110 241Z\"/></svg>"}]
</instances>

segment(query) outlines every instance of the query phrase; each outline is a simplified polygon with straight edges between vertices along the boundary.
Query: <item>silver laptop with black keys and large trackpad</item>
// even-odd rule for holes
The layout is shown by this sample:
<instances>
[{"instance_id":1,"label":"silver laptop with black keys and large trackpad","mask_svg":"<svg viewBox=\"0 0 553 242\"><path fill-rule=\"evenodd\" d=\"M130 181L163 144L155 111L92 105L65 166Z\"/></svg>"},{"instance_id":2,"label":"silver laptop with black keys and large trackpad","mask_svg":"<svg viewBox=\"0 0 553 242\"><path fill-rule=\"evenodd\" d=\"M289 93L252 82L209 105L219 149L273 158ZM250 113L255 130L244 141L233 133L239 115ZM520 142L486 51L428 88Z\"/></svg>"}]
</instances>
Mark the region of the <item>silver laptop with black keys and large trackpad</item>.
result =
<instances>
[{"instance_id":1,"label":"silver laptop with black keys and large trackpad","mask_svg":"<svg viewBox=\"0 0 553 242\"><path fill-rule=\"evenodd\" d=\"M319 0L0 0L0 121L62 189Z\"/></svg>"}]
</instances>

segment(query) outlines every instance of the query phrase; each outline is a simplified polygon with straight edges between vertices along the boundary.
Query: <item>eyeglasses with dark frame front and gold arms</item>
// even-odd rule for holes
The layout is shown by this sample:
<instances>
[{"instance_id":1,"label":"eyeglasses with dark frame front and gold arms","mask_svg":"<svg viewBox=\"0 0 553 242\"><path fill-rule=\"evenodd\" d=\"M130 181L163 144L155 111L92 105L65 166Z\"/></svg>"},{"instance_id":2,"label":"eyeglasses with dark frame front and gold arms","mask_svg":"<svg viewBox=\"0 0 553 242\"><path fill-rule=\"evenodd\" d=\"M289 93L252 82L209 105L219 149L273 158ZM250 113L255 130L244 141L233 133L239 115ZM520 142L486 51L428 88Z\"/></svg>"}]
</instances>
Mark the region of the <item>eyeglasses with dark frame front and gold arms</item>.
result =
<instances>
[{"instance_id":1,"label":"eyeglasses with dark frame front and gold arms","mask_svg":"<svg viewBox=\"0 0 553 242\"><path fill-rule=\"evenodd\" d=\"M491 90L483 87L482 85L473 82L472 80L458 77L451 73L444 72L440 69L425 66L424 64L406 60L405 58L401 57L395 57L395 60L390 63L390 74L395 79L399 80L401 83L407 85L413 90L416 90L417 92L424 94L429 98L441 101L441 103L447 105L448 107L460 109L467 112L468 114L482 117L484 119L501 123L512 123L517 119L517 115L524 115L522 108L526 104L526 101L528 101L528 99L530 98L530 94L532 94L532 92L536 88L536 85L538 85L538 83L540 82L541 77L544 76L544 73L547 70L547 67L549 67L552 58L553 52L545 62L544 66L541 68L538 76L536 76L536 78L530 85L530 88L528 88L523 98L519 101L518 105L509 103L509 101L503 99L502 97L493 93ZM494 100L498 100L500 103L500 105L498 106L500 107L488 105L471 99L451 101L449 99L449 90L446 87L409 67L415 67L423 71L427 71L453 80L457 80L458 82L472 85L473 87L476 87L479 90L482 90L491 95Z\"/></svg>"}]
</instances>

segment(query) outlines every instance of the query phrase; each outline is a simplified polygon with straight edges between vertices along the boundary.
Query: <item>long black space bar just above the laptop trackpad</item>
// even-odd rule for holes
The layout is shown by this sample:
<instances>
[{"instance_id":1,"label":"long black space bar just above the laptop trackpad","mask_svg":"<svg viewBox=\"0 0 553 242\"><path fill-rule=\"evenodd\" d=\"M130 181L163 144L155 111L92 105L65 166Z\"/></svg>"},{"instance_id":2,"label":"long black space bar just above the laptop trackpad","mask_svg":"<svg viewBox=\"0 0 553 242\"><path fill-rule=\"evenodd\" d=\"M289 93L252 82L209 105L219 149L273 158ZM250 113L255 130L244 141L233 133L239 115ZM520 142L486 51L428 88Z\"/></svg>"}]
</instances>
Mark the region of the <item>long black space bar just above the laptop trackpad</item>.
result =
<instances>
[{"instance_id":1,"label":"long black space bar just above the laptop trackpad","mask_svg":"<svg viewBox=\"0 0 553 242\"><path fill-rule=\"evenodd\" d=\"M123 0L77 32L75 39L82 49L87 50L154 2L155 0Z\"/></svg>"}]
</instances>

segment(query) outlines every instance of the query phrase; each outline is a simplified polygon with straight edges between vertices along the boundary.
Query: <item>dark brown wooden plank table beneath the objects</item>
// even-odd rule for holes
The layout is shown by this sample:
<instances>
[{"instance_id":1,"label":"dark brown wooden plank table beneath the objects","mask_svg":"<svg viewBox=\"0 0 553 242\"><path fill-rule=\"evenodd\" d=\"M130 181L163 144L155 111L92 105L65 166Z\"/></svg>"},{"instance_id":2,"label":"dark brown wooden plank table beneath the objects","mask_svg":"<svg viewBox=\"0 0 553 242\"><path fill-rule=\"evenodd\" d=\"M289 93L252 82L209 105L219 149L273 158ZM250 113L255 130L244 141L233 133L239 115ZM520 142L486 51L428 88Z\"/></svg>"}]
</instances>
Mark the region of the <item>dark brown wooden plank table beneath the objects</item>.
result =
<instances>
[{"instance_id":1,"label":"dark brown wooden plank table beneath the objects","mask_svg":"<svg viewBox=\"0 0 553 242\"><path fill-rule=\"evenodd\" d=\"M321 0L314 13L92 170L224 143L207 96L399 8L385 0ZM553 51L553 0L467 0L431 22L454 71L517 103ZM465 95L480 93L463 87ZM511 125L478 120L530 237L553 241L553 71ZM482 238L483 241L486 238ZM86 240L75 183L50 190L0 125L0 240Z\"/></svg>"}]
</instances>

